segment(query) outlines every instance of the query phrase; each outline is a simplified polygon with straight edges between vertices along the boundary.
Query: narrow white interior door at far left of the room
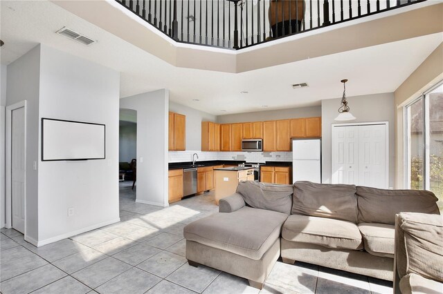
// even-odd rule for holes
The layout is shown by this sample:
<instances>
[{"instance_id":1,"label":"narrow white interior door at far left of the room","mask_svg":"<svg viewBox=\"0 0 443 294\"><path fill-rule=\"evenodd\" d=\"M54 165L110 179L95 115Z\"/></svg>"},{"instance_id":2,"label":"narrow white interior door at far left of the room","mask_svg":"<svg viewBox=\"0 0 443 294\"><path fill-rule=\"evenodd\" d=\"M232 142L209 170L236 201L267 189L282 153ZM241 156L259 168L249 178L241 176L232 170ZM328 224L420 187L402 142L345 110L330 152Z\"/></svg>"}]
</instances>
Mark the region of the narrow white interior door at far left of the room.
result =
<instances>
[{"instance_id":1,"label":"narrow white interior door at far left of the room","mask_svg":"<svg viewBox=\"0 0 443 294\"><path fill-rule=\"evenodd\" d=\"M25 108L12 110L11 200L12 228L25 231Z\"/></svg>"}]
</instances>

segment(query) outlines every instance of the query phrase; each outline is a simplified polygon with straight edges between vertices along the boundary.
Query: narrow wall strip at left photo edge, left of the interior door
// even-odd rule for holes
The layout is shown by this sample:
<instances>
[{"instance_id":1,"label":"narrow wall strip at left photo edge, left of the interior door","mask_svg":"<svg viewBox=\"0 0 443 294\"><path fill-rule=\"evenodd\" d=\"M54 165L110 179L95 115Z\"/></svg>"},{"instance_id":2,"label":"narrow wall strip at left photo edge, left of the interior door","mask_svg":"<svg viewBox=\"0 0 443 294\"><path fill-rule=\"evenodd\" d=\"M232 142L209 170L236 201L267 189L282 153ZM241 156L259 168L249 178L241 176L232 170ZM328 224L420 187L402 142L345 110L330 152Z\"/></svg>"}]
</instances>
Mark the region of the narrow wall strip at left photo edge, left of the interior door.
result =
<instances>
[{"instance_id":1,"label":"narrow wall strip at left photo edge, left of the interior door","mask_svg":"<svg viewBox=\"0 0 443 294\"><path fill-rule=\"evenodd\" d=\"M6 127L6 76L7 67L0 66L0 228L6 224L6 182L5 182L5 127Z\"/></svg>"}]
</instances>

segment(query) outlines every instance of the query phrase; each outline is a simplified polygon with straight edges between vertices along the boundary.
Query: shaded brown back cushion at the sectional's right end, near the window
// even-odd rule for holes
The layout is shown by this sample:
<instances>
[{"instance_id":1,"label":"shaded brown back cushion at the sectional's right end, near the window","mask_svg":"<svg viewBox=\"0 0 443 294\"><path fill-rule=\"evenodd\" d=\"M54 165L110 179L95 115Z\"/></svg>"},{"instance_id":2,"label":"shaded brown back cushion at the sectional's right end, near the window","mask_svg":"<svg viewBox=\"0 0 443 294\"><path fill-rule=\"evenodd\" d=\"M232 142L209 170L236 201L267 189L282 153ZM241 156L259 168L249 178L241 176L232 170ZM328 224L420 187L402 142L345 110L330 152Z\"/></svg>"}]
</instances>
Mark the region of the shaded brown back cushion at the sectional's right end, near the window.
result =
<instances>
[{"instance_id":1,"label":"shaded brown back cushion at the sectional's right end, near the window","mask_svg":"<svg viewBox=\"0 0 443 294\"><path fill-rule=\"evenodd\" d=\"M400 212L439 214L437 197L426 190L386 190L357 187L359 223L395 224Z\"/></svg>"}]
</instances>

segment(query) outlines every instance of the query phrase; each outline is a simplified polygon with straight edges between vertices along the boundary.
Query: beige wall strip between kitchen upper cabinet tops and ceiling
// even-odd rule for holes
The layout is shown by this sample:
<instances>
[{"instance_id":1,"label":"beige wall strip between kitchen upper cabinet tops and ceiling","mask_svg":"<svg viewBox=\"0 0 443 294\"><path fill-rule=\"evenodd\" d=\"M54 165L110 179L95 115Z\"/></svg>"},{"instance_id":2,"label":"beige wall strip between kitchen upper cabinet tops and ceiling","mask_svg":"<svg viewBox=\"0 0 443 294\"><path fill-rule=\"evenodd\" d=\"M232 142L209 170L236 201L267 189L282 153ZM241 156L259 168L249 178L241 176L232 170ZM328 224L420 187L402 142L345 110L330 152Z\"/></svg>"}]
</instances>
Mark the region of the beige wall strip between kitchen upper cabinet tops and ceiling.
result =
<instances>
[{"instance_id":1,"label":"beige wall strip between kitchen upper cabinet tops and ceiling","mask_svg":"<svg viewBox=\"0 0 443 294\"><path fill-rule=\"evenodd\" d=\"M266 110L256 112L237 113L235 115L219 115L219 124L231 124L248 121L271 121L277 119L296 119L299 117L320 117L321 106L288 108L280 110Z\"/></svg>"}]
</instances>

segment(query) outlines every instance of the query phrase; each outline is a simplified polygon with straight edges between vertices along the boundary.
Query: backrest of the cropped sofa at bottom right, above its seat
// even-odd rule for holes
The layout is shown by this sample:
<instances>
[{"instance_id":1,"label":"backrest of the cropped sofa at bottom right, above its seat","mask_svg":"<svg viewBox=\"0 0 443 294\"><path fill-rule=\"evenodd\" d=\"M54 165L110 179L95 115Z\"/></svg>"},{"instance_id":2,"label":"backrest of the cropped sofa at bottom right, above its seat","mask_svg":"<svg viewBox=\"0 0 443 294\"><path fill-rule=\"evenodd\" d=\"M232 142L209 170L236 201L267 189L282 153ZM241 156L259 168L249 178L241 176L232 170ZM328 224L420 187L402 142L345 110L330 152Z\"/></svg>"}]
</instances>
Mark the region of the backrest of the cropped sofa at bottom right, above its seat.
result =
<instances>
[{"instance_id":1,"label":"backrest of the cropped sofa at bottom right, above its seat","mask_svg":"<svg viewBox=\"0 0 443 294\"><path fill-rule=\"evenodd\" d=\"M413 273L443 282L443 217L399 213L395 222L395 267L399 279Z\"/></svg>"}]
</instances>

